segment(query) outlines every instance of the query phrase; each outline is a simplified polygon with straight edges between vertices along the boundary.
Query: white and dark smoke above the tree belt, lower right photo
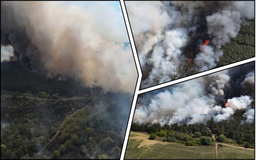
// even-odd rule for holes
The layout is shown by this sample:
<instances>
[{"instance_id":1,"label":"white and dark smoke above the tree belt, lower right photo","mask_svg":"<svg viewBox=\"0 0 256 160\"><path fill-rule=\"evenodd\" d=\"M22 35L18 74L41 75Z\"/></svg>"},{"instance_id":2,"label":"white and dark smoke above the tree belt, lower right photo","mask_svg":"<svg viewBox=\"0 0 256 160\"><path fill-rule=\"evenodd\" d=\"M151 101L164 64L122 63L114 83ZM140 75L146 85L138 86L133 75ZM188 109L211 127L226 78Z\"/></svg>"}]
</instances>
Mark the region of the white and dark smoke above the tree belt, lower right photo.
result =
<instances>
[{"instance_id":1,"label":"white and dark smoke above the tree belt, lower right photo","mask_svg":"<svg viewBox=\"0 0 256 160\"><path fill-rule=\"evenodd\" d=\"M253 89L245 89L248 85ZM254 64L175 84L150 99L150 104L136 108L135 123L196 124L211 118L220 122L241 109L246 111L245 122L254 122Z\"/></svg>"}]
</instances>

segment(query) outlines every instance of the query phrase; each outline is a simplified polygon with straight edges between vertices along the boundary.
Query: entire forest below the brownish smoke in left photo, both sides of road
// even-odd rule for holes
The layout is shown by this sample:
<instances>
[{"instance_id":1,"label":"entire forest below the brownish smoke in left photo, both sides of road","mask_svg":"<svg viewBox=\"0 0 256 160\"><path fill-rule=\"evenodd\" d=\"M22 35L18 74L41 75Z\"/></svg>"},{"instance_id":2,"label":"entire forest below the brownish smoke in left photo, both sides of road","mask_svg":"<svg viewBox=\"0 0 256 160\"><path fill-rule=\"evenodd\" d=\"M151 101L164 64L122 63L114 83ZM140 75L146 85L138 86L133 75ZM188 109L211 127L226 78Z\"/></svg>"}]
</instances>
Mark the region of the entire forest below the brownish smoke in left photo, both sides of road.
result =
<instances>
[{"instance_id":1,"label":"entire forest below the brownish smoke in left photo, both sides of road","mask_svg":"<svg viewBox=\"0 0 256 160\"><path fill-rule=\"evenodd\" d=\"M1 158L119 159L131 94L48 79L23 66L4 68L1 75ZM56 93L81 98L49 96Z\"/></svg>"}]
</instances>

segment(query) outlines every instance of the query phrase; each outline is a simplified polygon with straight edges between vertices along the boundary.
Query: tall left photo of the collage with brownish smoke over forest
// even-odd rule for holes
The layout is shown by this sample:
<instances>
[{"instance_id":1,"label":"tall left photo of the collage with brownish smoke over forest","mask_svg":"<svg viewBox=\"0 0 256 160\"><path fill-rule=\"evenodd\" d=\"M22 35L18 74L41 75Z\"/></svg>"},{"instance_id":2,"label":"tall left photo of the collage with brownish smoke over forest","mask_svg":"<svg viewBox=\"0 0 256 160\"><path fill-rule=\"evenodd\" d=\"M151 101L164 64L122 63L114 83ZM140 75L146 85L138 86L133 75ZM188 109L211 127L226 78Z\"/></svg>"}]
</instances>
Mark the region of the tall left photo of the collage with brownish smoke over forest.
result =
<instances>
[{"instance_id":1,"label":"tall left photo of the collage with brownish smoke over forest","mask_svg":"<svg viewBox=\"0 0 256 160\"><path fill-rule=\"evenodd\" d=\"M119 1L1 2L1 159L120 159L137 80Z\"/></svg>"}]
</instances>

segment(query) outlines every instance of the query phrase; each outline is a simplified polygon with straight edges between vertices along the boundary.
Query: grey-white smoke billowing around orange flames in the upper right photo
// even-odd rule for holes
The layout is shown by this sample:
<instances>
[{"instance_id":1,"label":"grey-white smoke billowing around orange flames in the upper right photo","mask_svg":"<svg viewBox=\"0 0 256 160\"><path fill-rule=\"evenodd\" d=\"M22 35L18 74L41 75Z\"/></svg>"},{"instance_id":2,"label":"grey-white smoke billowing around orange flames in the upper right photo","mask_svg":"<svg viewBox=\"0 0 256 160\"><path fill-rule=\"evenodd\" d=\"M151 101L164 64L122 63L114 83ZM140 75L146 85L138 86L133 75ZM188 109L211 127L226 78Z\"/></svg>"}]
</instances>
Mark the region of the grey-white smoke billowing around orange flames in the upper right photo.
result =
<instances>
[{"instance_id":1,"label":"grey-white smoke billowing around orange flames in the upper right photo","mask_svg":"<svg viewBox=\"0 0 256 160\"><path fill-rule=\"evenodd\" d=\"M246 18L254 18L253 1L128 1L125 5L142 71L148 72L143 88L181 76L182 64L189 58L197 72L215 67L223 55L221 46L237 36Z\"/></svg>"}]
</instances>

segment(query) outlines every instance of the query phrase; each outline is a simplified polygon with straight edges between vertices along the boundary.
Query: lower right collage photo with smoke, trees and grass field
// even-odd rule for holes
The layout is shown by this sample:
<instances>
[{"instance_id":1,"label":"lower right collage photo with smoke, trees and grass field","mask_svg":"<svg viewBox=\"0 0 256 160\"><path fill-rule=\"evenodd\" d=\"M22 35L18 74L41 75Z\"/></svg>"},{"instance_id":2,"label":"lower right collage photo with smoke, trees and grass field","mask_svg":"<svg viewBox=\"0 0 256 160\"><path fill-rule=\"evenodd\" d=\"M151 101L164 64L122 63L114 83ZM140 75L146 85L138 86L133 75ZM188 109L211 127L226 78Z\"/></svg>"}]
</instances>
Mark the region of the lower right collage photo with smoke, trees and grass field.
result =
<instances>
[{"instance_id":1,"label":"lower right collage photo with smoke, trees and grass field","mask_svg":"<svg viewBox=\"0 0 256 160\"><path fill-rule=\"evenodd\" d=\"M138 95L124 159L253 159L255 61Z\"/></svg>"}]
</instances>

